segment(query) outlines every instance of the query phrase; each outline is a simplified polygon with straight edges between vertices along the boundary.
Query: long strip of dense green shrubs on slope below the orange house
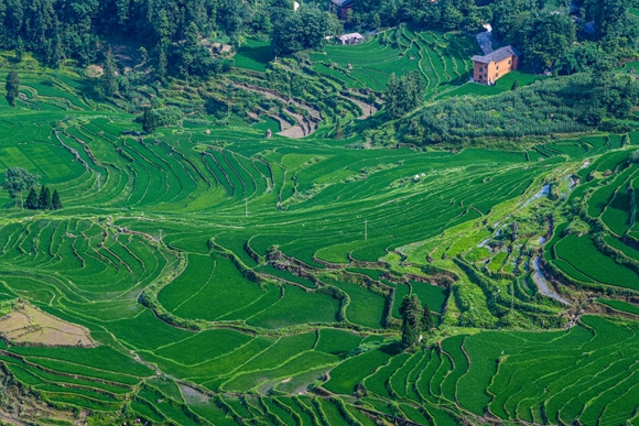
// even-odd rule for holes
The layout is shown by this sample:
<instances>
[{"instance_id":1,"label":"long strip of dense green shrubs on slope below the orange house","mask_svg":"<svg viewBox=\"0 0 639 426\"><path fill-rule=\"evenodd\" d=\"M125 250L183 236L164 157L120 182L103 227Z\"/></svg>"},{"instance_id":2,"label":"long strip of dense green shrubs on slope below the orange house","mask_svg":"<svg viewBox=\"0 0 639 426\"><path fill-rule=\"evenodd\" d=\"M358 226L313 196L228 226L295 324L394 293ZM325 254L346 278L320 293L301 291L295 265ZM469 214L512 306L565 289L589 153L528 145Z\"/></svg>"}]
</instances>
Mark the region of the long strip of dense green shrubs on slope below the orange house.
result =
<instances>
[{"instance_id":1,"label":"long strip of dense green shrubs on slope below the orange house","mask_svg":"<svg viewBox=\"0 0 639 426\"><path fill-rule=\"evenodd\" d=\"M626 118L639 88L609 73L538 81L490 98L452 98L402 122L419 144L468 139L521 138L587 131L608 118Z\"/></svg>"}]
</instances>

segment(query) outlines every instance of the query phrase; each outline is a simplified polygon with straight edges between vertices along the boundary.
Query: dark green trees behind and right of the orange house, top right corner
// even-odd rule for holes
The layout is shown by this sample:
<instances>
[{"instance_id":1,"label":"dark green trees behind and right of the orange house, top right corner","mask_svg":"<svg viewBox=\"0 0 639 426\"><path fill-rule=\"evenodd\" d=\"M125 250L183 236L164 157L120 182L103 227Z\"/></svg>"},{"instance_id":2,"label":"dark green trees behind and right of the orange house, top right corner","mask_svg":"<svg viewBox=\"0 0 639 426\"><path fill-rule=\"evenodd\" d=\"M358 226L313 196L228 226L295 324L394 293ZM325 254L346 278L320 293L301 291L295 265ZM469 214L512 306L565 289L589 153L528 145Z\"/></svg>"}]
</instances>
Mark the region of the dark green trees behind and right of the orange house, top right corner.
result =
<instances>
[{"instance_id":1,"label":"dark green trees behind and right of the orange house, top right corner","mask_svg":"<svg viewBox=\"0 0 639 426\"><path fill-rule=\"evenodd\" d=\"M577 0L578 11L570 15L548 0L495 0L491 25L502 44L523 53L523 66L531 72L552 67L561 74L591 70L599 61L631 56L639 48L639 18L630 12L636 1ZM595 34L584 30L594 21ZM575 43L575 42L580 43Z\"/></svg>"}]
</instances>

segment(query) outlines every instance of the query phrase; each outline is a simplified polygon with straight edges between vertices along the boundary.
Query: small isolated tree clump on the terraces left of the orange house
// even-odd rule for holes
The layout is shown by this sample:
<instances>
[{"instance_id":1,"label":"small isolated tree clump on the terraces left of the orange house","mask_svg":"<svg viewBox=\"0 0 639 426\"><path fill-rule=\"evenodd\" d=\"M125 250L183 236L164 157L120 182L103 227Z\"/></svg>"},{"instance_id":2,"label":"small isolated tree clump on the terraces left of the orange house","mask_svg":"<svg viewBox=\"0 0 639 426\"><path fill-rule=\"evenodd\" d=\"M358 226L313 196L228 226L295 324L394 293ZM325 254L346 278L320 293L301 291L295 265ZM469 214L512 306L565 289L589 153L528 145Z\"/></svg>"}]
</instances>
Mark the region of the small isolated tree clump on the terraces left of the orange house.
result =
<instances>
[{"instance_id":1,"label":"small isolated tree clump on the terraces left of the orange house","mask_svg":"<svg viewBox=\"0 0 639 426\"><path fill-rule=\"evenodd\" d=\"M391 118L399 118L412 111L424 100L424 80L418 70L401 77L392 74L386 85L387 111Z\"/></svg>"}]
</instances>

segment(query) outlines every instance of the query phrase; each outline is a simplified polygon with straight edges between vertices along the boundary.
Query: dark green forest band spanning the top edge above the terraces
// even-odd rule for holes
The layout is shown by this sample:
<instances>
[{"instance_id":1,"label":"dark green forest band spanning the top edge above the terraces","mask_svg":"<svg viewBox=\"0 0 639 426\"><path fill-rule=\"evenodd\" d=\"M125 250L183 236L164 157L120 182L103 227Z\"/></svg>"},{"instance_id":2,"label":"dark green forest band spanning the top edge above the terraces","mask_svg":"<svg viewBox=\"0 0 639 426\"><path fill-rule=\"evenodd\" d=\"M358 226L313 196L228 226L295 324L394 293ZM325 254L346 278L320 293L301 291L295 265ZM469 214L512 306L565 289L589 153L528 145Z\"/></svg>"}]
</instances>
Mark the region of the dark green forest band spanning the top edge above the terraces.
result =
<instances>
[{"instance_id":1,"label":"dark green forest band spanning the top edge above the terraces","mask_svg":"<svg viewBox=\"0 0 639 426\"><path fill-rule=\"evenodd\" d=\"M639 18L630 10L638 2L577 0L571 10L550 0L357 0L339 22L329 1L306 2L295 12L290 0L0 0L0 48L33 52L52 67L69 58L86 67L104 61L108 43L137 43L163 79L167 73L228 72L232 64L204 47L205 40L237 50L247 36L268 39L273 55L288 55L320 48L326 35L345 28L377 30L412 21L425 29L477 32L490 23L498 42L523 53L527 70L557 67L572 74L639 47ZM588 33L584 24L591 21Z\"/></svg>"}]
</instances>

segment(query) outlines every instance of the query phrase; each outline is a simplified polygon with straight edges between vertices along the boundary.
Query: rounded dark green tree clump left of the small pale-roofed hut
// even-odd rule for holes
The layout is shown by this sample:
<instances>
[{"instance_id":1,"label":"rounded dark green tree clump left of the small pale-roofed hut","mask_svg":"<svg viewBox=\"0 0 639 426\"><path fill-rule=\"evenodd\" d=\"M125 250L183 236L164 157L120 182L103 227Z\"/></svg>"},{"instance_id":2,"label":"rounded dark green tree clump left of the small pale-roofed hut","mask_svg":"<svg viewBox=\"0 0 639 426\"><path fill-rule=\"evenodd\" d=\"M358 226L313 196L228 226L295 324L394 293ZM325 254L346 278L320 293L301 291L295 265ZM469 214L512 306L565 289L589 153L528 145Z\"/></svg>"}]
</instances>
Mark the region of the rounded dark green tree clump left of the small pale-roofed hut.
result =
<instances>
[{"instance_id":1,"label":"rounded dark green tree clump left of the small pale-roofed hut","mask_svg":"<svg viewBox=\"0 0 639 426\"><path fill-rule=\"evenodd\" d=\"M272 48L275 55L289 55L324 44L324 37L336 32L334 15L313 7L281 13L273 22Z\"/></svg>"}]
</instances>

